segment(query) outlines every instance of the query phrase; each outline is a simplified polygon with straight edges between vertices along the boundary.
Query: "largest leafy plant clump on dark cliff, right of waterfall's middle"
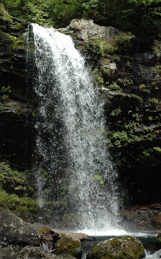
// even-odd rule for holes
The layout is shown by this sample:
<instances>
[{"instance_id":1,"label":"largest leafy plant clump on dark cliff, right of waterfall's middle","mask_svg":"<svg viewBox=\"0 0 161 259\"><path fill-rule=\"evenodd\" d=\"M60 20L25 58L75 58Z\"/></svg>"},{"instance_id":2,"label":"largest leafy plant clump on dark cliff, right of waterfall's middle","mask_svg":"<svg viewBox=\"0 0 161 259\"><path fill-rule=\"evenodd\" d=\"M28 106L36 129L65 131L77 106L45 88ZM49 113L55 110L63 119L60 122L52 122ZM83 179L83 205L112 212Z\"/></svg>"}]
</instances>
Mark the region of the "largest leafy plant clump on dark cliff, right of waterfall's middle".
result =
<instances>
[{"instance_id":1,"label":"largest leafy plant clump on dark cliff, right of waterfall's middle","mask_svg":"<svg viewBox=\"0 0 161 259\"><path fill-rule=\"evenodd\" d=\"M142 123L142 117L139 116L139 108L130 106L131 109L127 111L120 112L121 109L117 109L111 112L115 124L119 125L119 129L103 129L103 135L105 136L105 142L112 147L111 151L113 152L113 157L115 158L115 165L117 166L126 166L126 167L135 167L136 163L144 161L146 157L150 156L155 150L154 148L145 148L146 144L156 138L159 131L154 130L149 127L145 127ZM119 114L119 121L117 120L117 114ZM123 117L121 119L121 116ZM127 119L128 118L128 122ZM151 119L151 118L150 118ZM152 118L152 120L157 120ZM123 121L125 122L123 123ZM140 131L140 128L144 130Z\"/></svg>"}]
</instances>

